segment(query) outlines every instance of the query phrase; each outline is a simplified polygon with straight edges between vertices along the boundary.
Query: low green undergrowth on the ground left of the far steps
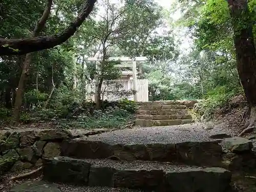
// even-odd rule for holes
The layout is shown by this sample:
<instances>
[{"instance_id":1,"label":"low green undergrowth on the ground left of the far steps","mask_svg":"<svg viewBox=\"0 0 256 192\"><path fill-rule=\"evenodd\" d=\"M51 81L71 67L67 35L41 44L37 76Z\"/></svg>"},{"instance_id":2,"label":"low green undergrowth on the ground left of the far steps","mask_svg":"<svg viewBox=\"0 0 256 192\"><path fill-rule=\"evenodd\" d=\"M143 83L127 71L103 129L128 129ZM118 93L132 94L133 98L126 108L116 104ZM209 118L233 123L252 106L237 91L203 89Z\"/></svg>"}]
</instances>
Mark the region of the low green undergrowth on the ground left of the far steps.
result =
<instances>
[{"instance_id":1,"label":"low green undergrowth on the ground left of the far steps","mask_svg":"<svg viewBox=\"0 0 256 192\"><path fill-rule=\"evenodd\" d=\"M127 124L133 124L136 106L136 102L128 99L102 101L100 110L96 109L96 103L93 101L73 102L69 105L59 104L55 108L35 108L25 111L20 116L20 123L31 124L45 121L62 129L118 129ZM10 116L10 110L0 108L2 124L8 122Z\"/></svg>"}]
</instances>

